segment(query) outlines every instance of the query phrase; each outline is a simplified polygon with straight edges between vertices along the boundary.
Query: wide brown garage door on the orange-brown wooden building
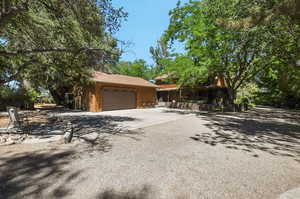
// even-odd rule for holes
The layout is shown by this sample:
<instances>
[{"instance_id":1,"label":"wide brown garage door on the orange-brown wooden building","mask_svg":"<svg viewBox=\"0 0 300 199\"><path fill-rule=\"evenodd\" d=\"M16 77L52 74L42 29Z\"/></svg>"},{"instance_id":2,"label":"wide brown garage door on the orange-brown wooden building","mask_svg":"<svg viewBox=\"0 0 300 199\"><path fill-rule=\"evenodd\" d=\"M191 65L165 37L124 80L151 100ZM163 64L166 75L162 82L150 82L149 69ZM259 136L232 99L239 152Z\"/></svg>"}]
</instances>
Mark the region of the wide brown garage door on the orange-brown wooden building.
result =
<instances>
[{"instance_id":1,"label":"wide brown garage door on the orange-brown wooden building","mask_svg":"<svg viewBox=\"0 0 300 199\"><path fill-rule=\"evenodd\" d=\"M103 111L126 110L136 108L136 93L121 89L103 89Z\"/></svg>"}]
</instances>

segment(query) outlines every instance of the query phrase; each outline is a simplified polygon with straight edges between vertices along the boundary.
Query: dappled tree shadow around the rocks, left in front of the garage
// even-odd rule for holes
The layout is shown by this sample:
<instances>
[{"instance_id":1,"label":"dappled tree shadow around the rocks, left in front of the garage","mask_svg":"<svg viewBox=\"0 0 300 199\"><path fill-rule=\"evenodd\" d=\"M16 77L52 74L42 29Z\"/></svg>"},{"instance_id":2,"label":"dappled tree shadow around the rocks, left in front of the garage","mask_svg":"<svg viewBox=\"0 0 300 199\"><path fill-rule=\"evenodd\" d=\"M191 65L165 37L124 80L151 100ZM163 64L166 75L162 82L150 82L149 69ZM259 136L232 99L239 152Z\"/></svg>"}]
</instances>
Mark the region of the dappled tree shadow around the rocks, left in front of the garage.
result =
<instances>
[{"instance_id":1,"label":"dappled tree shadow around the rocks, left in front of the garage","mask_svg":"<svg viewBox=\"0 0 300 199\"><path fill-rule=\"evenodd\" d=\"M88 144L85 151L103 151L107 152L112 146L109 144L107 136L119 135L126 136L136 141L136 136L141 134L137 131L126 130L122 127L123 122L135 121L131 117L105 116L105 115L87 115L87 113L69 111L68 115L51 117L53 112L43 111L39 115L43 119L30 122L31 135L39 137L39 139L48 139L53 136L61 136L67 127L67 123L71 122L74 128L74 139L80 140ZM55 114L58 112L56 111ZM64 112L62 112L64 113ZM78 114L79 113L79 114Z\"/></svg>"}]
</instances>

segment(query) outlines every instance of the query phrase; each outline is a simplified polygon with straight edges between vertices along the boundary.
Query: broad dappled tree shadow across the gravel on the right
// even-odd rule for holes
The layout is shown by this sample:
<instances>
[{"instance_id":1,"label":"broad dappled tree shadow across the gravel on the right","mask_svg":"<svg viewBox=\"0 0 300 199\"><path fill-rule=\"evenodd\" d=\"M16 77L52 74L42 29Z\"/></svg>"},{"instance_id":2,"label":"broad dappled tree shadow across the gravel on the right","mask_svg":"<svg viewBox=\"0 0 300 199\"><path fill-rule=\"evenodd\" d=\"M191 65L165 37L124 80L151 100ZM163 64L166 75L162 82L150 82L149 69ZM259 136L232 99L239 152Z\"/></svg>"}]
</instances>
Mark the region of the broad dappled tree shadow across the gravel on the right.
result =
<instances>
[{"instance_id":1,"label":"broad dappled tree shadow across the gravel on the right","mask_svg":"<svg viewBox=\"0 0 300 199\"><path fill-rule=\"evenodd\" d=\"M206 114L205 125L212 133L191 137L212 146L243 150L258 157L255 150L272 155L300 157L300 113L281 109L254 109L247 113Z\"/></svg>"}]
</instances>

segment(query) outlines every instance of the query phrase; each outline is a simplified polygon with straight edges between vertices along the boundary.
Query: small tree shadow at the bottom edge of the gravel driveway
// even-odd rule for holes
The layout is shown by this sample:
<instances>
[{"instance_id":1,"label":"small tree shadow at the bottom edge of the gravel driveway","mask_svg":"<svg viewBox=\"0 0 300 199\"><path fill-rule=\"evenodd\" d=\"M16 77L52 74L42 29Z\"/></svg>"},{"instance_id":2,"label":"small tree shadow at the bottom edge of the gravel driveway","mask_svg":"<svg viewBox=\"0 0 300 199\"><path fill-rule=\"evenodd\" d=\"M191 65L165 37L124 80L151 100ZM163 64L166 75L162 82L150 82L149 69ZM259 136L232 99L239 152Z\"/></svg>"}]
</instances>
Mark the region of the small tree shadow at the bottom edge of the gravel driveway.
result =
<instances>
[{"instance_id":1,"label":"small tree shadow at the bottom edge of the gravel driveway","mask_svg":"<svg viewBox=\"0 0 300 199\"><path fill-rule=\"evenodd\" d=\"M113 189L106 190L100 193L97 199L152 199L155 197L153 188L149 185L144 185L137 190L131 190L128 192L117 192Z\"/></svg>"}]
</instances>

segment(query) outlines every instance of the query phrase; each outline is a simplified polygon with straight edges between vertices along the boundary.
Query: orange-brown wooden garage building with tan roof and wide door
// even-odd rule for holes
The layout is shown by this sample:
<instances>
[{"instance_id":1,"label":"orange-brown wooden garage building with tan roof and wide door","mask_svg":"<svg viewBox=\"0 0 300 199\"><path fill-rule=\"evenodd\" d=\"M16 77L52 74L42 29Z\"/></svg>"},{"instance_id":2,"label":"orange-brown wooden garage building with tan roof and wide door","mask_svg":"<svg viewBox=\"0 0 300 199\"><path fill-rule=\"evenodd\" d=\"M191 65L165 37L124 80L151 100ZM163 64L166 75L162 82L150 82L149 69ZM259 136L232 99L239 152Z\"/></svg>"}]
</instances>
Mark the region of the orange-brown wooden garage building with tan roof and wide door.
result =
<instances>
[{"instance_id":1,"label":"orange-brown wooden garage building with tan roof and wide door","mask_svg":"<svg viewBox=\"0 0 300 199\"><path fill-rule=\"evenodd\" d=\"M157 86L138 77L95 72L75 97L75 108L90 112L154 107Z\"/></svg>"}]
</instances>

